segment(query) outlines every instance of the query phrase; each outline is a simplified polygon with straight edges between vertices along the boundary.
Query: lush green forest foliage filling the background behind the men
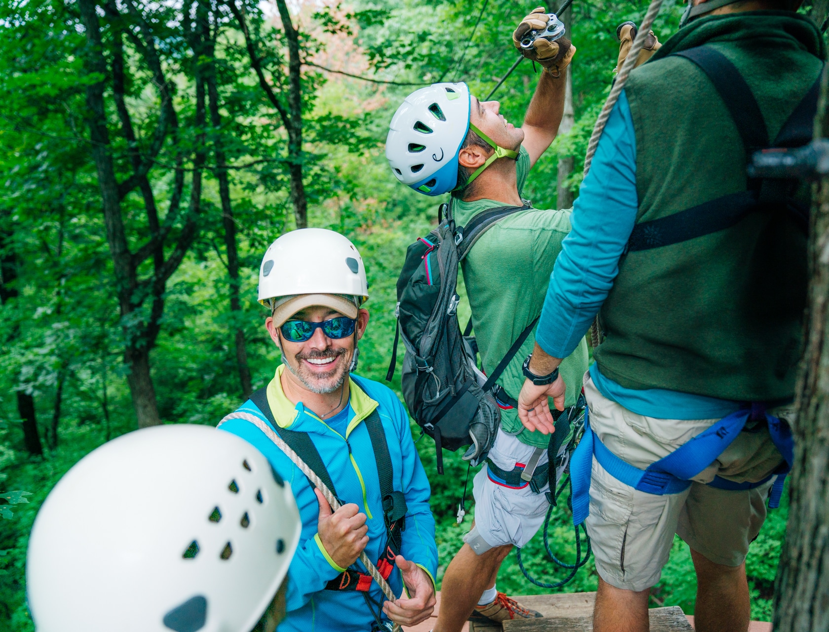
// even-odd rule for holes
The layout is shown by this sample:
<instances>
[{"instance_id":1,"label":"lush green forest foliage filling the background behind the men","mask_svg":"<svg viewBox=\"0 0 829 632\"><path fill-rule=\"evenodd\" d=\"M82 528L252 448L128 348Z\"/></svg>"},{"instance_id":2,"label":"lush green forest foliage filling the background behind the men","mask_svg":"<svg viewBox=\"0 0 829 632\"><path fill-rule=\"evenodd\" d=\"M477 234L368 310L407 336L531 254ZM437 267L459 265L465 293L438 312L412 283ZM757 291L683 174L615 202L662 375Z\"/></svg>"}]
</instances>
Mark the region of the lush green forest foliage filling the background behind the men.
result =
<instances>
[{"instance_id":1,"label":"lush green forest foliage filling the background behind the men","mask_svg":"<svg viewBox=\"0 0 829 632\"><path fill-rule=\"evenodd\" d=\"M185 3L188 7L189 3ZM559 158L573 157L570 186L577 190L589 134L613 79L620 22L641 19L647 0L576 0L565 12L573 41L575 124L555 140L532 170L526 195L539 207L553 207ZM120 6L120 5L119 5ZM280 88L287 81L284 32L273 16L245 0L268 78ZM263 5L264 6L264 5ZM380 81L422 84L465 80L475 95L486 95L516 59L511 31L534 4L507 0L355 0L342 4L298 3L303 59L327 59L321 66ZM100 8L103 14L103 5ZM482 11L482 7L484 10ZM151 354L158 409L165 423L215 424L241 400L234 332L245 334L253 386L273 377L279 362L262 326L256 302L259 260L270 241L293 228L287 134L273 105L250 71L245 40L225 4L216 4L216 64L222 124L200 129L195 116L194 69L206 63L182 36L181 6L142 5L162 42L162 65L175 85L181 113L177 140L187 155L207 134L211 146L202 200L200 234L163 294L160 333ZM548 7L552 10L552 7ZM666 0L654 31L666 40L676 30L681 5ZM480 20L478 16L480 15ZM124 27L137 32L131 17ZM111 63L115 22L102 20L107 61ZM86 129L87 85L100 77L85 73L85 31L74 2L0 0L0 279L12 294L0 308L0 483L27 489L11 498L13 520L0 521L0 629L33 630L25 605L28 534L46 495L79 459L135 427L122 350L134 324L124 321L101 214L92 146ZM158 91L133 36L124 37L125 100L133 112L138 145L146 151L158 124ZM325 57L327 56L327 57ZM352 71L354 66L363 70ZM395 282L405 248L437 219L441 199L400 186L385 163L385 134L391 115L414 88L372 83L303 66L303 175L310 226L347 235L361 250L369 281L371 312L361 343L361 375L382 381L395 331ZM524 61L496 98L508 119L520 120L536 85ZM283 98L280 96L280 98ZM129 143L121 134L113 95L104 95L119 177L130 171ZM220 142L230 165L240 255L240 311L230 310L230 279L216 177L213 144ZM153 166L153 191L167 208L172 197L176 146L167 143ZM185 161L191 166L191 158ZM187 182L190 176L188 176ZM189 194L189 184L183 195ZM149 234L142 199L124 199L124 216L135 239ZM136 246L136 244L132 244ZM11 267L7 267L7 265ZM14 270L15 278L7 277ZM139 270L153 275L147 261ZM13 290L13 291L12 291ZM463 284L460 292L463 294ZM459 308L463 322L468 304ZM136 322L147 318L138 310ZM391 384L400 392L400 373ZM27 454L17 411L17 391L36 402L44 455ZM58 397L58 394L61 397ZM413 425L415 439L419 430ZM439 577L461 545L474 513L471 479L475 471L459 454L444 458L446 474L435 471L434 443L417 444L432 484L438 523ZM464 480L469 475L463 525L455 522ZM9 501L11 502L11 501ZM0 504L6 516L7 504ZM771 512L752 545L747 569L755 618L768 620L773 577L787 516L784 505ZM574 559L570 514L562 503L550 522L550 546L565 561ZM545 559L541 533L523 551L528 571L542 581L564 574ZM588 563L565 591L592 591L597 575ZM511 594L544 592L521 575L516 557L502 565L498 586ZM693 611L696 583L690 552L676 541L662 581L652 591L653 605L681 605Z\"/></svg>"}]
</instances>

